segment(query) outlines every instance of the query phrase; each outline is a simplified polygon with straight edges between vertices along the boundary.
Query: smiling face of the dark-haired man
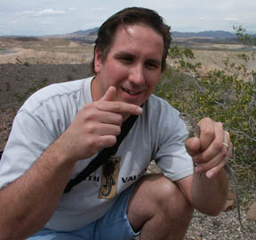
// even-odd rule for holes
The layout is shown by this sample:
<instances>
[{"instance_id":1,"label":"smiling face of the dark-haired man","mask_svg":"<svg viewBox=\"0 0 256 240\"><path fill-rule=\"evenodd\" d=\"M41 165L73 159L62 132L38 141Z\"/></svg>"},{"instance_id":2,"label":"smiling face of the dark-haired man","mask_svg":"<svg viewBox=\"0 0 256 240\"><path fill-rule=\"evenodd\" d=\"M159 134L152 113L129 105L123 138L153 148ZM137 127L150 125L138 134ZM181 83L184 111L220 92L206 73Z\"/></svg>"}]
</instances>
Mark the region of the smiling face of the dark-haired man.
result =
<instances>
[{"instance_id":1,"label":"smiling face of the dark-haired man","mask_svg":"<svg viewBox=\"0 0 256 240\"><path fill-rule=\"evenodd\" d=\"M119 26L107 58L95 53L96 78L92 99L99 100L109 86L116 87L116 101L142 105L156 88L164 52L162 35L151 27Z\"/></svg>"}]
</instances>

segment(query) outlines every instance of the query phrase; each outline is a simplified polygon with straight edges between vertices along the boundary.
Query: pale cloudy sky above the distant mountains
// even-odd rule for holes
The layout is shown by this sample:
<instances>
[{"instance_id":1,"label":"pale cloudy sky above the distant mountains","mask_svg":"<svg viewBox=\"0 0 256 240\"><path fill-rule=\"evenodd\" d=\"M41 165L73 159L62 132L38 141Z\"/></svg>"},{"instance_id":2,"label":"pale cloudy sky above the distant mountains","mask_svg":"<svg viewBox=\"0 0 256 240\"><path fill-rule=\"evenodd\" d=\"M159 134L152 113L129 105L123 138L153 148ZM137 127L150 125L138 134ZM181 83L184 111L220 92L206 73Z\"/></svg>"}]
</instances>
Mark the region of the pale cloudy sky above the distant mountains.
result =
<instances>
[{"instance_id":1,"label":"pale cloudy sky above the distant mountains","mask_svg":"<svg viewBox=\"0 0 256 240\"><path fill-rule=\"evenodd\" d=\"M1 0L0 35L62 35L100 27L115 12L142 6L162 15L172 31L256 33L255 0Z\"/></svg>"}]
</instances>

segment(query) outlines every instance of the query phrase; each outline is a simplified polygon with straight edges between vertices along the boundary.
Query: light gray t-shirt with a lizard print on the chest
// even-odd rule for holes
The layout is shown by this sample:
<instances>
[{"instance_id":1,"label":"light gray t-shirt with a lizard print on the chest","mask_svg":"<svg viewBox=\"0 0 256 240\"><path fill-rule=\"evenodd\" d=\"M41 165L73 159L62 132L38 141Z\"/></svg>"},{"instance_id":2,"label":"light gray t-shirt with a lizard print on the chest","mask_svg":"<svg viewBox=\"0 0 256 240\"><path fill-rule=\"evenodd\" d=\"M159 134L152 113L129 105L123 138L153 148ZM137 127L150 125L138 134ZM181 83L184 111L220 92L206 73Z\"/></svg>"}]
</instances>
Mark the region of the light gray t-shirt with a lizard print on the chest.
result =
<instances>
[{"instance_id":1,"label":"light gray t-shirt with a lizard print on the chest","mask_svg":"<svg viewBox=\"0 0 256 240\"><path fill-rule=\"evenodd\" d=\"M92 102L91 82L92 78L88 78L52 84L28 98L13 121L4 149L0 188L24 174L68 128L79 109ZM62 195L45 227L72 230L99 219L108 212L118 194L145 174L152 159L173 182L193 174L192 159L183 142L187 134L179 112L152 95L114 156L118 159L117 174L112 175L114 195L107 198L100 195L107 185L100 166L70 193ZM95 156L78 161L71 179Z\"/></svg>"}]
</instances>

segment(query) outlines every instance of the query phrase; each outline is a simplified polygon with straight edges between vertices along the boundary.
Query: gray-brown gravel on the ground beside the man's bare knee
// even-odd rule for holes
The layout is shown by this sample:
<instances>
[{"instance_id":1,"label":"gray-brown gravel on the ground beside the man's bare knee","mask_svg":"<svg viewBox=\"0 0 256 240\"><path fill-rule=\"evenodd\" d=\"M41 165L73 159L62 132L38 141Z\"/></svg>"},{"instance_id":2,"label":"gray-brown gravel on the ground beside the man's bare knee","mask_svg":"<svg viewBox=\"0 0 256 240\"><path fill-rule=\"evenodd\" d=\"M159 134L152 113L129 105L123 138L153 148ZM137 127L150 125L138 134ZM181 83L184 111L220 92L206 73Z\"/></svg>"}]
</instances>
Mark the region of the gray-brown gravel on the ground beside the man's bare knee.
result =
<instances>
[{"instance_id":1,"label":"gray-brown gravel on the ground beside the man's bare knee","mask_svg":"<svg viewBox=\"0 0 256 240\"><path fill-rule=\"evenodd\" d=\"M148 167L148 173L159 172L158 167L153 162ZM238 190L241 201L241 219L246 229L244 232L238 221L237 209L221 212L218 216L212 217L194 212L190 222L185 240L252 240L256 239L256 221L247 219L246 213L250 205L256 201L255 184L238 182Z\"/></svg>"}]
</instances>

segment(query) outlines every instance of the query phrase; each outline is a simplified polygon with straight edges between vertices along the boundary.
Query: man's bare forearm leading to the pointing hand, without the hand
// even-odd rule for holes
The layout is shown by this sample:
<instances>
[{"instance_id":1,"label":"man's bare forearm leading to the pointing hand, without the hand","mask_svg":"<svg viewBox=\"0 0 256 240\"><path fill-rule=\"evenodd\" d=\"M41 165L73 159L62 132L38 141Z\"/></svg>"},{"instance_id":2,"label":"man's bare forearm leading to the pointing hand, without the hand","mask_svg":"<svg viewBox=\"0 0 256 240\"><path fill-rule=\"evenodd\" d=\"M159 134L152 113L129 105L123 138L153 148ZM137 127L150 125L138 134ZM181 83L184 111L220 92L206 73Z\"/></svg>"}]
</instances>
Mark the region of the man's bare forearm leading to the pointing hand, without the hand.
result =
<instances>
[{"instance_id":1,"label":"man's bare forearm leading to the pointing hand, without the hand","mask_svg":"<svg viewBox=\"0 0 256 240\"><path fill-rule=\"evenodd\" d=\"M0 239L22 239L49 221L74 162L63 160L53 143L19 179L0 190Z\"/></svg>"}]
</instances>

